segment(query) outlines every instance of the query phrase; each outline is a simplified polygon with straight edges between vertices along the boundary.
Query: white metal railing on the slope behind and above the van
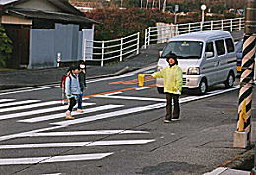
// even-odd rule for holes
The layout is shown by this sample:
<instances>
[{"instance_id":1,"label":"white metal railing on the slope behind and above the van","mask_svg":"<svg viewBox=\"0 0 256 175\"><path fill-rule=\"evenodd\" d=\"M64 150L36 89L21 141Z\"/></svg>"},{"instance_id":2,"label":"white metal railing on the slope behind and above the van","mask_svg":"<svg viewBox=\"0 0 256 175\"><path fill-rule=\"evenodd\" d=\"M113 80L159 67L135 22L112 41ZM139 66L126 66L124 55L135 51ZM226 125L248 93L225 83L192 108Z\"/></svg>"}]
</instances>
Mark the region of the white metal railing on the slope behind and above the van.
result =
<instances>
[{"instance_id":1,"label":"white metal railing on the slope behind and above the van","mask_svg":"<svg viewBox=\"0 0 256 175\"><path fill-rule=\"evenodd\" d=\"M244 18L205 21L204 23L172 24L145 29L144 48L151 43L165 43L175 35L203 30L224 30L233 32L244 29Z\"/></svg>"}]
</instances>

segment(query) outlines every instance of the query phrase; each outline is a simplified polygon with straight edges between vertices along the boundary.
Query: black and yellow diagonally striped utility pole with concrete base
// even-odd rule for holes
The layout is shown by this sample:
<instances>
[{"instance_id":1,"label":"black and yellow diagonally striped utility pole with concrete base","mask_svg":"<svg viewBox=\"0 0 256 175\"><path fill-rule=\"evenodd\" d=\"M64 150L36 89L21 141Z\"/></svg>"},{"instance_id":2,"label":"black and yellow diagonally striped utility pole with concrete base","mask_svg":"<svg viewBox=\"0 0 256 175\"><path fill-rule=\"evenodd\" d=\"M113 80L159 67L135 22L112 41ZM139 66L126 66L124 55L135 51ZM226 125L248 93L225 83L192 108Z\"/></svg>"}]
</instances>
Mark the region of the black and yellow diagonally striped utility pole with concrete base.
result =
<instances>
[{"instance_id":1,"label":"black and yellow diagonally striped utility pole with concrete base","mask_svg":"<svg viewBox=\"0 0 256 175\"><path fill-rule=\"evenodd\" d=\"M234 133L234 147L250 145L252 92L255 65L256 1L248 0L245 16L245 36L242 49L242 70L238 101L237 131Z\"/></svg>"}]
</instances>

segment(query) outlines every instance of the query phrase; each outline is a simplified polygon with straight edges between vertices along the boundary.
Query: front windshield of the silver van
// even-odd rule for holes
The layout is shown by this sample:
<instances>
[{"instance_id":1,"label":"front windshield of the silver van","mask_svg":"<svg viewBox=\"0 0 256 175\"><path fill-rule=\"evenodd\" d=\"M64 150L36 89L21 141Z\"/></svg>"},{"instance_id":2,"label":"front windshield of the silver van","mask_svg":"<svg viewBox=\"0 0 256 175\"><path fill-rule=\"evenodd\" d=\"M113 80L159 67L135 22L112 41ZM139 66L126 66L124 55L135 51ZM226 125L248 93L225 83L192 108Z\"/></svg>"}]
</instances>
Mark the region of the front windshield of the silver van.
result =
<instances>
[{"instance_id":1,"label":"front windshield of the silver van","mask_svg":"<svg viewBox=\"0 0 256 175\"><path fill-rule=\"evenodd\" d=\"M161 58L177 56L178 59L200 59L203 42L199 41L172 41L164 48Z\"/></svg>"}]
</instances>

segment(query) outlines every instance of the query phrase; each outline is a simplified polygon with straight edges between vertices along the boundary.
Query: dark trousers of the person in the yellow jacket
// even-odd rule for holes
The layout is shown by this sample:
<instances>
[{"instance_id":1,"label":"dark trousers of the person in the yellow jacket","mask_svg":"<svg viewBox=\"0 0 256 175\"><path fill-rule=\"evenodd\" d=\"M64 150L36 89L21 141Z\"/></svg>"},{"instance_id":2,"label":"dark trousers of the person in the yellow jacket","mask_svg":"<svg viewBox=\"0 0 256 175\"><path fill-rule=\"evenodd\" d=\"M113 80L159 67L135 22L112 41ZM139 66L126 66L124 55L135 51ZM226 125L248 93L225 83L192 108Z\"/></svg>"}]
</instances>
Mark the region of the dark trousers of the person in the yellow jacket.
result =
<instances>
[{"instance_id":1,"label":"dark trousers of the person in the yellow jacket","mask_svg":"<svg viewBox=\"0 0 256 175\"><path fill-rule=\"evenodd\" d=\"M180 113L180 107L179 107L179 94L172 94L172 93L166 93L166 117L165 119L171 120L178 119L179 113ZM172 100L174 102L174 110L172 114Z\"/></svg>"}]
</instances>

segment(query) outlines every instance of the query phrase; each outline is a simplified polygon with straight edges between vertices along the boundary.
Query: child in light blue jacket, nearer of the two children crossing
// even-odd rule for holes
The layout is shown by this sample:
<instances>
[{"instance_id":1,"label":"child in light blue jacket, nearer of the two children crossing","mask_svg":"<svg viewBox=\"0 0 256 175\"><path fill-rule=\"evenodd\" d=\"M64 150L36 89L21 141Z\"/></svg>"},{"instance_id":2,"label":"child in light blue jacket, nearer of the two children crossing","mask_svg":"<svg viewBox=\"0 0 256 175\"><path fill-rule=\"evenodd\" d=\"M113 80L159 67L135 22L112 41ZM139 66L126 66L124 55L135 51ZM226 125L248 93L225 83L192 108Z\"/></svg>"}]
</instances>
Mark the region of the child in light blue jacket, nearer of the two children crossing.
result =
<instances>
[{"instance_id":1,"label":"child in light blue jacket, nearer of the two children crossing","mask_svg":"<svg viewBox=\"0 0 256 175\"><path fill-rule=\"evenodd\" d=\"M71 66L70 67L70 74L65 80L65 92L66 96L69 99L69 107L66 111L66 119L74 119L71 116L71 112L73 107L76 105L76 100L78 99L78 95L81 94L78 74L79 74L79 67L78 66Z\"/></svg>"}]
</instances>

